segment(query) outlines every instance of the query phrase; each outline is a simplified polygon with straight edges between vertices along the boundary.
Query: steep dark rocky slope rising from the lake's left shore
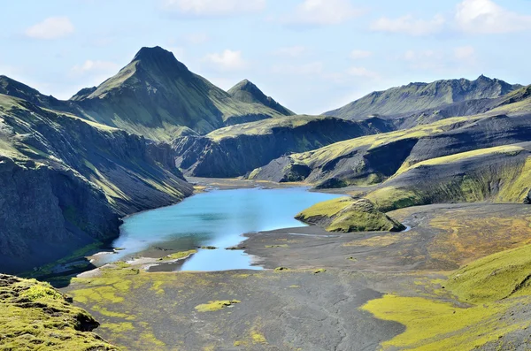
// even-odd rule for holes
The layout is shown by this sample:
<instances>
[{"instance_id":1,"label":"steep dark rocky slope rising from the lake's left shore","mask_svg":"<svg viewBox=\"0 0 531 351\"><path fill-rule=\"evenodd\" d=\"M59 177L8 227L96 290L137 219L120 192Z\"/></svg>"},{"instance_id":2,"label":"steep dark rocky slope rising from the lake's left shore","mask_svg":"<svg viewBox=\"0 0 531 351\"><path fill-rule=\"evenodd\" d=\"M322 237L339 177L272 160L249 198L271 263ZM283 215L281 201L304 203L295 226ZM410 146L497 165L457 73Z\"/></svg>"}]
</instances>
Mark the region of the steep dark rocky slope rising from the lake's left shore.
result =
<instances>
[{"instance_id":1,"label":"steep dark rocky slope rising from the lake's left shore","mask_svg":"<svg viewBox=\"0 0 531 351\"><path fill-rule=\"evenodd\" d=\"M192 188L167 145L0 95L0 271L118 235L119 217Z\"/></svg>"}]
</instances>

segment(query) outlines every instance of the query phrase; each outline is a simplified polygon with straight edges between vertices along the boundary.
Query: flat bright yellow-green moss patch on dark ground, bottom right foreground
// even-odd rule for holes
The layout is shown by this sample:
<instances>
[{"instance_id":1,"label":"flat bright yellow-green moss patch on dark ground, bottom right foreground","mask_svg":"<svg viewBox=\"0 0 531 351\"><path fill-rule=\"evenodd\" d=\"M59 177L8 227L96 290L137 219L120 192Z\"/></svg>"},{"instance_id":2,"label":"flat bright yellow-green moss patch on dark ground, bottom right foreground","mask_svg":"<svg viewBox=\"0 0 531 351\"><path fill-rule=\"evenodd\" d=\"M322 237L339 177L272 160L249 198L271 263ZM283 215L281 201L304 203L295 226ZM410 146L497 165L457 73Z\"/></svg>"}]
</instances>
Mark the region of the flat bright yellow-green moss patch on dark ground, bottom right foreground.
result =
<instances>
[{"instance_id":1,"label":"flat bright yellow-green moss patch on dark ground, bottom right foreground","mask_svg":"<svg viewBox=\"0 0 531 351\"><path fill-rule=\"evenodd\" d=\"M404 333L381 344L384 350L466 351L529 324L500 321L507 307L492 302L459 308L450 302L388 294L367 302L362 309L380 319L405 325Z\"/></svg>"}]
</instances>

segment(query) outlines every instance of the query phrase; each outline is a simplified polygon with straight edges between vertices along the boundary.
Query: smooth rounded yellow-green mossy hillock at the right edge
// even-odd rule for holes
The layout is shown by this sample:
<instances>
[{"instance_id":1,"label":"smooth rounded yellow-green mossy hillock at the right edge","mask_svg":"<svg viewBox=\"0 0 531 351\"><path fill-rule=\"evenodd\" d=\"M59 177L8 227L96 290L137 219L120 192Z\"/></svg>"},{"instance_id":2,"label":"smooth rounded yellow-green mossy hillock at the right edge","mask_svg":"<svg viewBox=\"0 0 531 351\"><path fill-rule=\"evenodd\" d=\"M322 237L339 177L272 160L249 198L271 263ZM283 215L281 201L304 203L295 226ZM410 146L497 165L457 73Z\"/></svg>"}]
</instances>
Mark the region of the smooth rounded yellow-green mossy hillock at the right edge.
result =
<instances>
[{"instance_id":1,"label":"smooth rounded yellow-green mossy hillock at the right edge","mask_svg":"<svg viewBox=\"0 0 531 351\"><path fill-rule=\"evenodd\" d=\"M462 301L497 301L531 292L531 245L513 248L467 264L448 280Z\"/></svg>"}]
</instances>

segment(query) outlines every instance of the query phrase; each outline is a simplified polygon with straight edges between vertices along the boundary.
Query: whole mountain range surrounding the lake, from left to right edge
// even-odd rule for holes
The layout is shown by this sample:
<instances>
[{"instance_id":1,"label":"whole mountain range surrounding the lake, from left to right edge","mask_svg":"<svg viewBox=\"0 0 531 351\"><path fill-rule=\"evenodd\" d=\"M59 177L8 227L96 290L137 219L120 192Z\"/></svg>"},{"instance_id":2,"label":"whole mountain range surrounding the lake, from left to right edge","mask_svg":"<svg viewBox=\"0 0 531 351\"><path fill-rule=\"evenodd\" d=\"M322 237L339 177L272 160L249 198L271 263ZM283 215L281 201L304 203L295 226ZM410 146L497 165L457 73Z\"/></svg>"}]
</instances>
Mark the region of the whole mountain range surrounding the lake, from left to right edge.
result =
<instances>
[{"instance_id":1,"label":"whole mountain range surrounding the lake, from left to right edge","mask_svg":"<svg viewBox=\"0 0 531 351\"><path fill-rule=\"evenodd\" d=\"M0 268L25 271L112 240L120 217L191 195L183 173L370 186L367 196L384 209L500 192L523 202L527 186L506 184L525 169L528 148L519 143L531 141L530 96L530 87L481 76L411 83L323 116L296 115L249 80L217 88L159 47L142 48L67 101L0 76ZM489 149L505 146L519 156ZM466 154L475 150L478 157ZM485 174L489 157L504 160L489 174L505 178L478 180L481 195L427 191L461 184L463 167ZM452 165L441 171L432 160ZM420 191L428 166L435 173L422 173ZM390 188L398 204L381 201ZM415 201L402 199L412 193Z\"/></svg>"}]
</instances>

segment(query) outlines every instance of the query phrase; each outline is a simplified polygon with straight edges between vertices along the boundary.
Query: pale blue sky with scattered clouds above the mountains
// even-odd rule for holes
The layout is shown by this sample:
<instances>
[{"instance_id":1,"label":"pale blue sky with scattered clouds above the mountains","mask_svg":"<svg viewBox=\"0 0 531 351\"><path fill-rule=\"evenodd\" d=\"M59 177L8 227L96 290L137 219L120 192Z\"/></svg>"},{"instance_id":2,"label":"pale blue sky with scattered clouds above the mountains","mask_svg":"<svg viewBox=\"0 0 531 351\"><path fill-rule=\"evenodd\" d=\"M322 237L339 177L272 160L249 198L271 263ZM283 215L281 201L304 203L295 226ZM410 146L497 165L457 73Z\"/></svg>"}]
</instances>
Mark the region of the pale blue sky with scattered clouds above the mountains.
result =
<instances>
[{"instance_id":1,"label":"pale blue sky with scattered clouds above the mountains","mask_svg":"<svg viewBox=\"0 0 531 351\"><path fill-rule=\"evenodd\" d=\"M412 81L531 84L530 39L531 0L19 0L0 74L67 99L158 45L220 88L248 79L319 114Z\"/></svg>"}]
</instances>

